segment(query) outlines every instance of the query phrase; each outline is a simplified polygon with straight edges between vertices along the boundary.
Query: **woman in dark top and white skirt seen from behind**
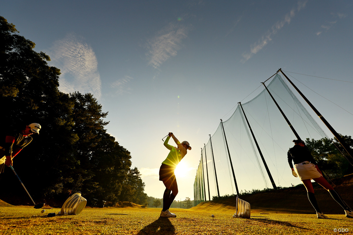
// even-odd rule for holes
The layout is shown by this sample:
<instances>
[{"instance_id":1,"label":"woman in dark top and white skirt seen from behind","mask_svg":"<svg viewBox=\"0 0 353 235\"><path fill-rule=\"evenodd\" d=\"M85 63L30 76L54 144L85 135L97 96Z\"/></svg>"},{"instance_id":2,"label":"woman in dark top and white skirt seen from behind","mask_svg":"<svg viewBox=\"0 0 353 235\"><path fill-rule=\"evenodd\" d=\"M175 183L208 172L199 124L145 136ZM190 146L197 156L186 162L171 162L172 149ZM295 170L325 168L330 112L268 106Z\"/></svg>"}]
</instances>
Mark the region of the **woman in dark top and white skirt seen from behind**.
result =
<instances>
[{"instance_id":1,"label":"woman in dark top and white skirt seen from behind","mask_svg":"<svg viewBox=\"0 0 353 235\"><path fill-rule=\"evenodd\" d=\"M316 211L317 218L327 219L328 217L321 212L317 205L311 179L315 180L331 194L331 197L342 206L343 210L345 210L347 218L353 218L352 209L342 200L340 195L327 182L327 180L322 177L322 172L317 166L316 161L313 159L309 149L305 146L305 142L302 140L293 140L293 142L295 144L294 147L290 148L288 151L288 163L289 166L291 166L293 176L299 177L303 182L309 201ZM295 164L295 169L293 168L292 161Z\"/></svg>"}]
</instances>

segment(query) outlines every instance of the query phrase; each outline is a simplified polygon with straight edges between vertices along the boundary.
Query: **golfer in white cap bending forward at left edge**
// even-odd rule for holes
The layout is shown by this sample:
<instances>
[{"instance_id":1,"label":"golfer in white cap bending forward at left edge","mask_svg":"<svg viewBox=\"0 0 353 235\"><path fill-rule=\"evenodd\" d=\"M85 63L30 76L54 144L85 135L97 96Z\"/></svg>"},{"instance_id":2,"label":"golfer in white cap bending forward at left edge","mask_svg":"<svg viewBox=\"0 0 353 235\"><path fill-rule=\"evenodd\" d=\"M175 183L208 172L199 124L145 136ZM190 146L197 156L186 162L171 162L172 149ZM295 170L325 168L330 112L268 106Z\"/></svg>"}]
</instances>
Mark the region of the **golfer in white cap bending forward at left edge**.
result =
<instances>
[{"instance_id":1,"label":"golfer in white cap bending forward at left edge","mask_svg":"<svg viewBox=\"0 0 353 235\"><path fill-rule=\"evenodd\" d=\"M4 172L5 165L12 166L13 157L32 141L30 135L34 133L39 134L40 129L41 125L38 123L31 123L23 130L13 130L5 132L2 135L0 140L0 173Z\"/></svg>"}]
</instances>

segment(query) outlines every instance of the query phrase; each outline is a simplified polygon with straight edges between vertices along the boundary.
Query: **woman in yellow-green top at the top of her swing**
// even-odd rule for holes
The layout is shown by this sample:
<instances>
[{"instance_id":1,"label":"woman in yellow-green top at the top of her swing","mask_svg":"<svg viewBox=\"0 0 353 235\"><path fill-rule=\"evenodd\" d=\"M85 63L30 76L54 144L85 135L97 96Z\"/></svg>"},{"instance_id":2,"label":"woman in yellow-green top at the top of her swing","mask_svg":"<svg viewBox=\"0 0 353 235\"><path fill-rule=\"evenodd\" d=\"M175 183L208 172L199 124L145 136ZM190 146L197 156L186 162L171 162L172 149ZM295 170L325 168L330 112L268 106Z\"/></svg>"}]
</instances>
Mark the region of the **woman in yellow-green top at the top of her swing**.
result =
<instances>
[{"instance_id":1,"label":"woman in yellow-green top at the top of her swing","mask_svg":"<svg viewBox=\"0 0 353 235\"><path fill-rule=\"evenodd\" d=\"M178 147L173 147L168 144L170 137L173 138ZM191 147L187 141L180 143L172 132L169 132L168 137L164 141L164 146L166 146L170 152L159 169L159 180L163 181L164 186L166 186L166 190L164 190L163 194L163 209L160 217L175 218L177 216L169 212L169 207L172 205L175 196L178 194L178 184L177 179L175 179L174 170L181 159L187 154L187 149L191 150Z\"/></svg>"}]
</instances>

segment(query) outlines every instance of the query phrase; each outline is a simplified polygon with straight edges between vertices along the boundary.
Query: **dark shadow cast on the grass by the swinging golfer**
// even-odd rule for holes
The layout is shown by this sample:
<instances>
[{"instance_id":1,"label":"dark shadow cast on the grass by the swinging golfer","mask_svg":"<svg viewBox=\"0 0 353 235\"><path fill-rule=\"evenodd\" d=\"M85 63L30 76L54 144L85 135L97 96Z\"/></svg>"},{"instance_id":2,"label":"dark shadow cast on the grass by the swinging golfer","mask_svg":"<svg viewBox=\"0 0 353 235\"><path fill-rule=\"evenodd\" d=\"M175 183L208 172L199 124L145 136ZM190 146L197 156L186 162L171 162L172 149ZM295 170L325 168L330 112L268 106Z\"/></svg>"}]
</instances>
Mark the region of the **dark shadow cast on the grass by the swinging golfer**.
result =
<instances>
[{"instance_id":1,"label":"dark shadow cast on the grass by the swinging golfer","mask_svg":"<svg viewBox=\"0 0 353 235\"><path fill-rule=\"evenodd\" d=\"M170 223L168 218L159 217L156 221L150 223L141 229L136 235L153 235L153 234L163 234L163 235L174 235L175 228L172 223Z\"/></svg>"}]
</instances>

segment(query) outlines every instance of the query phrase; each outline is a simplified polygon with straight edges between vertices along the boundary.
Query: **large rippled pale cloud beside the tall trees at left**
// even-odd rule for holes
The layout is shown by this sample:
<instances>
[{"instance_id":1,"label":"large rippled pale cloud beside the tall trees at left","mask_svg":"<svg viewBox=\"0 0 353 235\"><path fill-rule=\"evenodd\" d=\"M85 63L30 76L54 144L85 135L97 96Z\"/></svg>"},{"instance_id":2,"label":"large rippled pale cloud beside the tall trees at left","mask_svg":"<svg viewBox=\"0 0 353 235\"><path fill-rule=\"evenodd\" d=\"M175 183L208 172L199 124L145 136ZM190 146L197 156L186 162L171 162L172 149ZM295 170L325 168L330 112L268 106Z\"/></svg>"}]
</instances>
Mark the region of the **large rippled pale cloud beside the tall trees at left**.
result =
<instances>
[{"instance_id":1,"label":"large rippled pale cloud beside the tall trees at left","mask_svg":"<svg viewBox=\"0 0 353 235\"><path fill-rule=\"evenodd\" d=\"M54 66L61 70L61 92L91 93L101 98L101 78L98 62L93 49L84 40L73 33L54 42L48 53Z\"/></svg>"}]
</instances>

